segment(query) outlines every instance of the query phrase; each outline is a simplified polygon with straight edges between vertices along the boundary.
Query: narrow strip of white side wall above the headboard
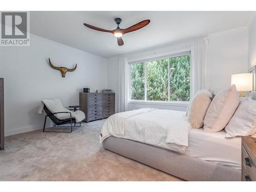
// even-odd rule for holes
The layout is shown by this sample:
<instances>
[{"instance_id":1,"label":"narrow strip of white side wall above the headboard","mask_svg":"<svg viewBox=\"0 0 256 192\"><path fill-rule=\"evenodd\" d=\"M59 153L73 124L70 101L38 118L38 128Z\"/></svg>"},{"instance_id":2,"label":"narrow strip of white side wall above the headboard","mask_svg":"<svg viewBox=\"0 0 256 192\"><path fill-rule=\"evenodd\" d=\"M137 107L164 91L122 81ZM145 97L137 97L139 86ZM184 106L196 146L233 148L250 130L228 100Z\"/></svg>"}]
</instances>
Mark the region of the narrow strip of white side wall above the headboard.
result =
<instances>
[{"instance_id":1,"label":"narrow strip of white side wall above the headboard","mask_svg":"<svg viewBox=\"0 0 256 192\"><path fill-rule=\"evenodd\" d=\"M248 29L248 66L249 68L256 65L256 17L253 17L252 23Z\"/></svg>"}]
</instances>

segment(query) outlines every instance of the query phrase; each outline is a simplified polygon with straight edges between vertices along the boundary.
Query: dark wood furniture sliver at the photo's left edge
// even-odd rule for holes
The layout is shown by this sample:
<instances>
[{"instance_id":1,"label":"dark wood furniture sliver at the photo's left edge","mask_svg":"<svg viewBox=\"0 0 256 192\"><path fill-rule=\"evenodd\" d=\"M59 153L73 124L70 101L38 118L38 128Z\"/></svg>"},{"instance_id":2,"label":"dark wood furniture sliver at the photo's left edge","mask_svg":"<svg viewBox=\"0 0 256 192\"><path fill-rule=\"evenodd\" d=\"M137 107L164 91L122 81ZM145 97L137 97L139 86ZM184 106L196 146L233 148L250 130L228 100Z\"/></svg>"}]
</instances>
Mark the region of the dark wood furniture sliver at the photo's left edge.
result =
<instances>
[{"instance_id":1,"label":"dark wood furniture sliver at the photo's left edge","mask_svg":"<svg viewBox=\"0 0 256 192\"><path fill-rule=\"evenodd\" d=\"M0 150L4 150L4 79L0 78Z\"/></svg>"}]
</instances>

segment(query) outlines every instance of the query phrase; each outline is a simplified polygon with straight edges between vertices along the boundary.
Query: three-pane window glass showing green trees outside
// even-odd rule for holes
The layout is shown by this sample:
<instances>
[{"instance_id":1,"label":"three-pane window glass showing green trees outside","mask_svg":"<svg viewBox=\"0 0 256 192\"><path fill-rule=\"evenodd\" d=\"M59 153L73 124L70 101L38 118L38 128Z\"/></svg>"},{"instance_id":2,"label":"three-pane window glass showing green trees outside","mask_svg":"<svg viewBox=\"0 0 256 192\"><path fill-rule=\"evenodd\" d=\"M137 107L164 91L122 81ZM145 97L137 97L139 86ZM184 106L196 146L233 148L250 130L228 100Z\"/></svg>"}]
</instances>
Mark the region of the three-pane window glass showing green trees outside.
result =
<instances>
[{"instance_id":1,"label":"three-pane window glass showing green trees outside","mask_svg":"<svg viewBox=\"0 0 256 192\"><path fill-rule=\"evenodd\" d=\"M131 99L189 101L190 54L131 64Z\"/></svg>"}]
</instances>

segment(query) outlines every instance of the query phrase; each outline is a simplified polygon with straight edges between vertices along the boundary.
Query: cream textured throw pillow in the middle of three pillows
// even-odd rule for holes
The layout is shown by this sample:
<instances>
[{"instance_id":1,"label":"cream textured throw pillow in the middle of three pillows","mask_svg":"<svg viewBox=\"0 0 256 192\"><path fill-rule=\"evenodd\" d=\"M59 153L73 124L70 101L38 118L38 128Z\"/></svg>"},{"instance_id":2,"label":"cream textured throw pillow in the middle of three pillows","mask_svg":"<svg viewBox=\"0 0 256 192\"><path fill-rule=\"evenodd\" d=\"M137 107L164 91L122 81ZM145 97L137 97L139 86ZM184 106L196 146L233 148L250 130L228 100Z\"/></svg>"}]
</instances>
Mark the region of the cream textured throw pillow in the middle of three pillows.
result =
<instances>
[{"instance_id":1,"label":"cream textured throw pillow in the middle of three pillows","mask_svg":"<svg viewBox=\"0 0 256 192\"><path fill-rule=\"evenodd\" d=\"M214 99L204 118L204 131L218 132L224 129L239 105L236 86L222 90Z\"/></svg>"}]
</instances>

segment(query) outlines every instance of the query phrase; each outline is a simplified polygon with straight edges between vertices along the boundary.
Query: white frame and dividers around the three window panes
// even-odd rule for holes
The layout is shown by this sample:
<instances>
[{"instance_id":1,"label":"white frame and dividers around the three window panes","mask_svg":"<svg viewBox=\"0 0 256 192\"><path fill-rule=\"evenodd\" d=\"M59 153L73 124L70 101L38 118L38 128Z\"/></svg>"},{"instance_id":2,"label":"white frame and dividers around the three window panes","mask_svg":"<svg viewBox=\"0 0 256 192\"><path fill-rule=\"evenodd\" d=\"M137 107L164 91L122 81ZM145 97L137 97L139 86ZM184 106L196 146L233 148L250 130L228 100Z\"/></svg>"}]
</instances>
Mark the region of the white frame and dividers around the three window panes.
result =
<instances>
[{"instance_id":1,"label":"white frame and dividers around the three window panes","mask_svg":"<svg viewBox=\"0 0 256 192\"><path fill-rule=\"evenodd\" d=\"M156 104L156 105L177 105L177 106L187 106L187 103L189 101L170 101L170 58L172 57L180 57L184 55L190 55L191 59L191 54L190 51L182 52L182 53L176 53L176 54L171 54L171 55L165 55L161 57L154 57L154 58L149 58L149 59L143 59L143 60L137 60L137 61L132 61L129 62L130 65L130 83L129 83L129 103L136 103L136 104ZM168 59L168 101L148 101L146 100L146 63L150 61L155 61L155 60L160 60L160 59ZM131 79L131 65L136 64L136 63L144 63L144 99L131 99L132 98L132 79ZM191 62L190 62L191 64ZM190 65L190 73L191 73L191 65ZM191 87L191 85L190 85ZM191 90L191 89L190 89Z\"/></svg>"}]
</instances>

